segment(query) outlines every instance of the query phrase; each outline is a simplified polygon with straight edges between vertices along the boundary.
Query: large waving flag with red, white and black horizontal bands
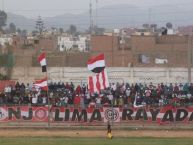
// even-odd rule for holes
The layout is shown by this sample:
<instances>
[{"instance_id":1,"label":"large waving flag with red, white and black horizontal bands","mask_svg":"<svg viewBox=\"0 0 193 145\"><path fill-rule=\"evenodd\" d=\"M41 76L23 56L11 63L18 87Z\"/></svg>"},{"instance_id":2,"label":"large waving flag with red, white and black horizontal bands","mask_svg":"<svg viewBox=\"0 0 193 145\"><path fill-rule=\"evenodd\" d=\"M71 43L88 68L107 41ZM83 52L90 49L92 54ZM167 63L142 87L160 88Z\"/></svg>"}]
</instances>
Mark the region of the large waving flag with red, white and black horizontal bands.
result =
<instances>
[{"instance_id":1,"label":"large waving flag with red, white and black horizontal bands","mask_svg":"<svg viewBox=\"0 0 193 145\"><path fill-rule=\"evenodd\" d=\"M105 68L105 57L104 54L97 55L88 60L88 70L94 73L100 73Z\"/></svg>"}]
</instances>

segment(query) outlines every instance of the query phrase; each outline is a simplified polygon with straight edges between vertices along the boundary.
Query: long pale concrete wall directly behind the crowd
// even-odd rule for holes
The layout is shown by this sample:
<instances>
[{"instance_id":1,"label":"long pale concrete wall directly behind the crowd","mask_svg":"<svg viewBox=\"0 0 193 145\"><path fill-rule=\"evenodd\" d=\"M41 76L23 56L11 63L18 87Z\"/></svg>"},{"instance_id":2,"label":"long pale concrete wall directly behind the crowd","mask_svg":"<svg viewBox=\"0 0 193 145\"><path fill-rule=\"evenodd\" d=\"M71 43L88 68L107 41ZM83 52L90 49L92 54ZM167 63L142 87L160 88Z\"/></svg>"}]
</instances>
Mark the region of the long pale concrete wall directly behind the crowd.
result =
<instances>
[{"instance_id":1,"label":"long pale concrete wall directly behind the crowd","mask_svg":"<svg viewBox=\"0 0 193 145\"><path fill-rule=\"evenodd\" d=\"M187 68L107 68L110 82L129 82L129 83L175 83L188 82ZM192 69L193 71L193 69ZM54 82L87 82L87 77L93 75L86 67L49 67L49 80ZM20 82L33 82L46 76L41 72L41 67L15 67L12 72L12 79ZM193 78L193 77L192 77Z\"/></svg>"}]
</instances>

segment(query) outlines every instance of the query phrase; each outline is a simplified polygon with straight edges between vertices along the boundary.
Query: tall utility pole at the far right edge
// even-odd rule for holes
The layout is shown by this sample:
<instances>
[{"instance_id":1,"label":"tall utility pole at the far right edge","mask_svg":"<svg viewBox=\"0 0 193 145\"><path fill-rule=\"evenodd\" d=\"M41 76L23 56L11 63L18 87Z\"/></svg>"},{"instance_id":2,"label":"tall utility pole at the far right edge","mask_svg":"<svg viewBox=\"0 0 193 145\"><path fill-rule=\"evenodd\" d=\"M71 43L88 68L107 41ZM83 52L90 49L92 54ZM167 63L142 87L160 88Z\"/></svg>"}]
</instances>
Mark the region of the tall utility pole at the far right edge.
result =
<instances>
[{"instance_id":1,"label":"tall utility pole at the far right edge","mask_svg":"<svg viewBox=\"0 0 193 145\"><path fill-rule=\"evenodd\" d=\"M191 67L192 67L192 31L188 36L188 82L191 83L192 74L191 74Z\"/></svg>"}]
</instances>

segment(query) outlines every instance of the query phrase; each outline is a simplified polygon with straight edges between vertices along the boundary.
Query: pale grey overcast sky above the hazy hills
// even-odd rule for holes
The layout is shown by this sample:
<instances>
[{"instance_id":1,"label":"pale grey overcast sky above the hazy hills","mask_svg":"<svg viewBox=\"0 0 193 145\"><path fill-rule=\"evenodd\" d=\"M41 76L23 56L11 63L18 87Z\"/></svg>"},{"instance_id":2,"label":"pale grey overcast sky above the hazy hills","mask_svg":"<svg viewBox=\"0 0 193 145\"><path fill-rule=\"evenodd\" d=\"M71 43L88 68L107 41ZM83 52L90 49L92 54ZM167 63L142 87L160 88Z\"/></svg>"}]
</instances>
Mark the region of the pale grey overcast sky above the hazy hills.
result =
<instances>
[{"instance_id":1,"label":"pale grey overcast sky above the hazy hills","mask_svg":"<svg viewBox=\"0 0 193 145\"><path fill-rule=\"evenodd\" d=\"M95 8L96 0L91 0ZM90 0L0 0L0 9L29 18L41 15L52 17L65 13L82 13L89 9ZM156 5L192 6L193 0L98 0L98 7L115 4L130 4L150 8ZM193 7L193 6L192 6Z\"/></svg>"}]
</instances>

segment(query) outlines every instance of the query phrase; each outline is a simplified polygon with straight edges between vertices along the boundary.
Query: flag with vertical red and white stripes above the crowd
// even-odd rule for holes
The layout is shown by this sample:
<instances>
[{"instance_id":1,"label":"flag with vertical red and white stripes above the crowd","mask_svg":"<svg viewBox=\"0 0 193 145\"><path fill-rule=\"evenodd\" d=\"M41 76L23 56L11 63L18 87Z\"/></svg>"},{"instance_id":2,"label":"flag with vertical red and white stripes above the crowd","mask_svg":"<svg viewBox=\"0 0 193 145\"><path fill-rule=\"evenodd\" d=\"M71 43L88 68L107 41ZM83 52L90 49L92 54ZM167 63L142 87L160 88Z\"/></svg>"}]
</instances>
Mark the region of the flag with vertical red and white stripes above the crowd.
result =
<instances>
[{"instance_id":1,"label":"flag with vertical red and white stripes above the crowd","mask_svg":"<svg viewBox=\"0 0 193 145\"><path fill-rule=\"evenodd\" d=\"M100 92L101 90L104 90L108 87L109 80L105 69L95 76L88 77L88 89L91 93Z\"/></svg>"}]
</instances>

